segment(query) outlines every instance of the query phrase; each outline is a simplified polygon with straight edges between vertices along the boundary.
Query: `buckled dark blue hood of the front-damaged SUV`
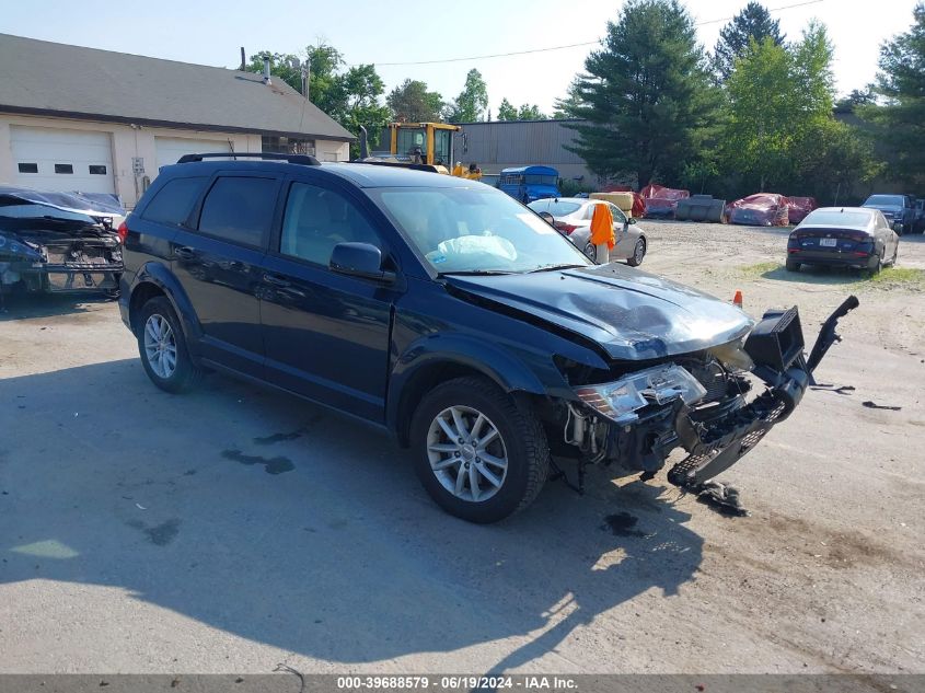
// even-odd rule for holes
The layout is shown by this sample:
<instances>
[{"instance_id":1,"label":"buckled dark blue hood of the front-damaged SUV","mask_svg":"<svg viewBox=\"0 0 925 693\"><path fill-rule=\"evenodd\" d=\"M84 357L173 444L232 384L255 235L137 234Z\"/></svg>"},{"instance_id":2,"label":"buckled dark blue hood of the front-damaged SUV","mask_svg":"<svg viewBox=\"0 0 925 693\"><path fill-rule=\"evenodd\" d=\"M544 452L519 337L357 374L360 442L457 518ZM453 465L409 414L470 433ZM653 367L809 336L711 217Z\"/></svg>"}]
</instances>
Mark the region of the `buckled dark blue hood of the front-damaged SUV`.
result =
<instances>
[{"instance_id":1,"label":"buckled dark blue hood of the front-damaged SUV","mask_svg":"<svg viewBox=\"0 0 925 693\"><path fill-rule=\"evenodd\" d=\"M731 303L624 265L495 276L446 276L456 289L598 343L613 359L689 354L747 335Z\"/></svg>"}]
</instances>

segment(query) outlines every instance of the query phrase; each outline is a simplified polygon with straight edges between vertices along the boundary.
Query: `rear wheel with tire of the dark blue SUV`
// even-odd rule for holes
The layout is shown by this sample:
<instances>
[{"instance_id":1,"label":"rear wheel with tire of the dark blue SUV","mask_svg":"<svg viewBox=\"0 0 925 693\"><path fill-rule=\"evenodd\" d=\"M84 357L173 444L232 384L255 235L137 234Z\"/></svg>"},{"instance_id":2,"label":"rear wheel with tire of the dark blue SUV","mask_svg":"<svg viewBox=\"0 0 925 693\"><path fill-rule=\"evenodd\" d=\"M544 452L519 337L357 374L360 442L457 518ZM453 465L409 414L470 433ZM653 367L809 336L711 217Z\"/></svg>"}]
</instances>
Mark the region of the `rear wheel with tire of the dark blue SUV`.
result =
<instances>
[{"instance_id":1,"label":"rear wheel with tire of the dark blue SUV","mask_svg":"<svg viewBox=\"0 0 925 693\"><path fill-rule=\"evenodd\" d=\"M203 370L189 358L186 339L173 305L165 297L153 298L141 308L138 321L138 353L144 372L165 392L190 390Z\"/></svg>"}]
</instances>

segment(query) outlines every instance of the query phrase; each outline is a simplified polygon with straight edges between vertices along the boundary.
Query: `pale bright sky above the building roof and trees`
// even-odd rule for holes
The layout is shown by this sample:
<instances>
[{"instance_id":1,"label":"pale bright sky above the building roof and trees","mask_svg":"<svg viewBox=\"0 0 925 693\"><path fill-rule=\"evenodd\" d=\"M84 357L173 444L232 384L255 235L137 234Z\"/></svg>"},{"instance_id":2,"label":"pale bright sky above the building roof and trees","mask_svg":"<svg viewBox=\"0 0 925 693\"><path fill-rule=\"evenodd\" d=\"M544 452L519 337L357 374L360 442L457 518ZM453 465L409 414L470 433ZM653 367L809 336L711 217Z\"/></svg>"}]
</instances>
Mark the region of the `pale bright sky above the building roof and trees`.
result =
<instances>
[{"instance_id":1,"label":"pale bright sky above the building roof and trees","mask_svg":"<svg viewBox=\"0 0 925 693\"><path fill-rule=\"evenodd\" d=\"M719 30L747 0L686 0L701 43L713 48ZM466 72L477 68L497 113L506 97L551 113L556 97L596 48L575 46L528 55L469 59L599 41L618 0L467 0L401 3L381 0L32 0L4 2L0 33L132 53L157 58L235 68L240 47L302 54L323 41L347 63L372 62L386 91L405 79L427 82L444 100L455 97ZM807 23L822 21L835 46L840 94L863 89L877 72L881 43L912 23L915 0L765 0L788 39ZM798 5L798 7L794 7ZM876 9L875 9L876 8ZM458 59L420 65L424 61ZM388 65L388 63L418 65ZM5 66L11 69L12 66Z\"/></svg>"}]
</instances>

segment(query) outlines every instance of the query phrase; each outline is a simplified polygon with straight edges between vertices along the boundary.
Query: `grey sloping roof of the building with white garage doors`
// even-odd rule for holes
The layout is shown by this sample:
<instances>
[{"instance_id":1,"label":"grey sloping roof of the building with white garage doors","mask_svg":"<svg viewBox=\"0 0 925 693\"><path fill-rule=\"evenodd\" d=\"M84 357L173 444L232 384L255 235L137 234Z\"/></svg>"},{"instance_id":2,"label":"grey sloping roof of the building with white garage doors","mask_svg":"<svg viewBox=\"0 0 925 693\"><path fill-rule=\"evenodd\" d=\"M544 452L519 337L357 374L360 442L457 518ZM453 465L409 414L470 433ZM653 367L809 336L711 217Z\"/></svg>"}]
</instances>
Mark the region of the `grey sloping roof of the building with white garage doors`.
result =
<instances>
[{"instance_id":1,"label":"grey sloping roof of the building with white garage doors","mask_svg":"<svg viewBox=\"0 0 925 693\"><path fill-rule=\"evenodd\" d=\"M352 140L281 79L0 34L0 111Z\"/></svg>"}]
</instances>

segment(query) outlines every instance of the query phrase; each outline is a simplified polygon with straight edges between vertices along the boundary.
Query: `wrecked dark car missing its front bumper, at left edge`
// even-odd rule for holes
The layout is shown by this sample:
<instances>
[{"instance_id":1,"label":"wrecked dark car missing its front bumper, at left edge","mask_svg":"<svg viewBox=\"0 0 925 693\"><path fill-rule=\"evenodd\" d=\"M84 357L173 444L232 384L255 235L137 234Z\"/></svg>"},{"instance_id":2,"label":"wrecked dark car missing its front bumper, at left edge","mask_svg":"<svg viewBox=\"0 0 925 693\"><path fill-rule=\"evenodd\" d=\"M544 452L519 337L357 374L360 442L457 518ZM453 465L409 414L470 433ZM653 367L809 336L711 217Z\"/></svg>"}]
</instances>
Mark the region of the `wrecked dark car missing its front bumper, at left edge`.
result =
<instances>
[{"instance_id":1,"label":"wrecked dark car missing its front bumper, at left edge","mask_svg":"<svg viewBox=\"0 0 925 693\"><path fill-rule=\"evenodd\" d=\"M103 291L123 270L114 196L0 186L0 293Z\"/></svg>"}]
</instances>

